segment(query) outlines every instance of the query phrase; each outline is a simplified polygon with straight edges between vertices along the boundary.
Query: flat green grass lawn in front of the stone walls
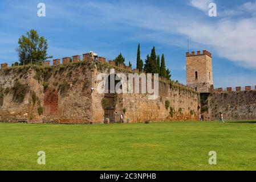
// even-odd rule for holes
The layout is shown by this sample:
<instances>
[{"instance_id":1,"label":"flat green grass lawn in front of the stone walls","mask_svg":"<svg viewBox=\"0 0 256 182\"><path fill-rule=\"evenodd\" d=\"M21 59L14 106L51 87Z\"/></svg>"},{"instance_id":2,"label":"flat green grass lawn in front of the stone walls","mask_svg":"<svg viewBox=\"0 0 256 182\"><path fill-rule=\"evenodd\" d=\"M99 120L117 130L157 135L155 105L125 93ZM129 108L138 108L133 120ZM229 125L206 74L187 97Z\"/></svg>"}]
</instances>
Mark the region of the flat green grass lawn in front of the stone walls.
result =
<instances>
[{"instance_id":1,"label":"flat green grass lawn in front of the stone walls","mask_svg":"<svg viewBox=\"0 0 256 182\"><path fill-rule=\"evenodd\" d=\"M38 151L46 165L38 165ZM209 165L209 151L217 165ZM0 123L0 170L255 170L256 122Z\"/></svg>"}]
</instances>

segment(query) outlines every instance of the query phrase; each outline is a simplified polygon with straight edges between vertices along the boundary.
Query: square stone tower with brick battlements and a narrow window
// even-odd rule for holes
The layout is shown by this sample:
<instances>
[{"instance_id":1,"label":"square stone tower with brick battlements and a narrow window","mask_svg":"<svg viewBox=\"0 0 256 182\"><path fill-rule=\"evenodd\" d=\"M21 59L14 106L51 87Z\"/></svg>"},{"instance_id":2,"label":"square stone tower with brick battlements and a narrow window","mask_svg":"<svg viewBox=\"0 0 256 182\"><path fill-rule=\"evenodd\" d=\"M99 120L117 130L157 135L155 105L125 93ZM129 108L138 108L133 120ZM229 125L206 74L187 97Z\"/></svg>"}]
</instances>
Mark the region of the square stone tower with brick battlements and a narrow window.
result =
<instances>
[{"instance_id":1,"label":"square stone tower with brick battlements and a narrow window","mask_svg":"<svg viewBox=\"0 0 256 182\"><path fill-rule=\"evenodd\" d=\"M212 54L206 50L186 53L186 84L200 93L213 88Z\"/></svg>"}]
</instances>

